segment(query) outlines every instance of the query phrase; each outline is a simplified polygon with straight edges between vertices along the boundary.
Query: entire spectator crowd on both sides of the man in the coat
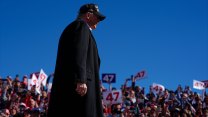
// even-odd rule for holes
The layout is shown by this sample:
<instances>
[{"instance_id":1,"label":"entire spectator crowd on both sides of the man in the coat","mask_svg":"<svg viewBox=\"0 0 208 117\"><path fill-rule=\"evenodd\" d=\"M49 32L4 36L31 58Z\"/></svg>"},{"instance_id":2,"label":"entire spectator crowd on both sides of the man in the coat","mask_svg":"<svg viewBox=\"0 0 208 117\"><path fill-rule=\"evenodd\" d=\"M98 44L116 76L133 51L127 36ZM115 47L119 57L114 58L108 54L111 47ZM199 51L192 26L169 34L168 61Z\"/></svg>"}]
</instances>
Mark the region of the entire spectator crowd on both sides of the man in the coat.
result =
<instances>
[{"instance_id":1,"label":"entire spectator crowd on both sides of the man in the coat","mask_svg":"<svg viewBox=\"0 0 208 117\"><path fill-rule=\"evenodd\" d=\"M19 75L0 78L0 117L47 117L50 99L47 86L41 86L39 93L35 85L28 90L28 78L26 75L22 79ZM146 87L136 85L134 78L131 86L127 82L120 89L112 88L121 90L122 102L103 103L105 117L208 117L208 95L201 96L189 86L178 85L176 89L159 92L148 86L145 93ZM105 91L101 84L101 92Z\"/></svg>"}]
</instances>

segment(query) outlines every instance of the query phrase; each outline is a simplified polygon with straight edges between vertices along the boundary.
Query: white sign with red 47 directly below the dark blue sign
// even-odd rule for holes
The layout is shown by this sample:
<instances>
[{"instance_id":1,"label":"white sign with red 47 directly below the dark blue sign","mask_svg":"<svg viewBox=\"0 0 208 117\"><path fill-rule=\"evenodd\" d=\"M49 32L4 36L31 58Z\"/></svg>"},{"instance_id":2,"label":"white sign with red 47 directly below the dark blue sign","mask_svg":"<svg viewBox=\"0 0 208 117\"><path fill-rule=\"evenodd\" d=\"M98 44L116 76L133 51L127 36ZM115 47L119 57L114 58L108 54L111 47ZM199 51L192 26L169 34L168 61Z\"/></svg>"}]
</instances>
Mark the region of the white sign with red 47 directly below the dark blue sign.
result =
<instances>
[{"instance_id":1,"label":"white sign with red 47 directly below the dark blue sign","mask_svg":"<svg viewBox=\"0 0 208 117\"><path fill-rule=\"evenodd\" d=\"M104 104L117 104L122 103L121 90L104 91L103 92Z\"/></svg>"}]
</instances>

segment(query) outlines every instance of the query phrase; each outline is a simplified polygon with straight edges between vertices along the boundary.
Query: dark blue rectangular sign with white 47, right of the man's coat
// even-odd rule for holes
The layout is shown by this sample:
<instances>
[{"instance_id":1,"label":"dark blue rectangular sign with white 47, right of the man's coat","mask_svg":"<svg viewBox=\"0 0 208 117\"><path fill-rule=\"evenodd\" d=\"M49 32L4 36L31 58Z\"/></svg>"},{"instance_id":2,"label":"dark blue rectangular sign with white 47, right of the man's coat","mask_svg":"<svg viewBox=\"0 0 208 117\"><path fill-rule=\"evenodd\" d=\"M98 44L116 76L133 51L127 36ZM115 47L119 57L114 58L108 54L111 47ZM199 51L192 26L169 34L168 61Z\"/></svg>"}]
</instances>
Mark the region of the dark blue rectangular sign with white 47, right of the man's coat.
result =
<instances>
[{"instance_id":1,"label":"dark blue rectangular sign with white 47, right of the man's coat","mask_svg":"<svg viewBox=\"0 0 208 117\"><path fill-rule=\"evenodd\" d=\"M116 74L114 74L114 73L102 74L102 82L103 83L115 83L116 82Z\"/></svg>"}]
</instances>

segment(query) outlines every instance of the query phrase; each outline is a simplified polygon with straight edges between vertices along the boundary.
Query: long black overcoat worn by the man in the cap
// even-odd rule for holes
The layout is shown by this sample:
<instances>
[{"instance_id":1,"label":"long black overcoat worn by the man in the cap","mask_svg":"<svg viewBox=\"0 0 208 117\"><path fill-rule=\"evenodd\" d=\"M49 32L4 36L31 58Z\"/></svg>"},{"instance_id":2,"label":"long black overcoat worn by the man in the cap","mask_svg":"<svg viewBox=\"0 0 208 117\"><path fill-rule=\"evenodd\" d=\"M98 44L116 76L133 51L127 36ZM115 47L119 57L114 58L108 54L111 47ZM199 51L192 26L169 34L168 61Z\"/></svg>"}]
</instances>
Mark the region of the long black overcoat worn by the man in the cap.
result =
<instances>
[{"instance_id":1,"label":"long black overcoat worn by the man in the cap","mask_svg":"<svg viewBox=\"0 0 208 117\"><path fill-rule=\"evenodd\" d=\"M86 22L77 19L63 31L58 45L48 117L103 117L99 84L100 58ZM87 84L87 94L75 91Z\"/></svg>"}]
</instances>

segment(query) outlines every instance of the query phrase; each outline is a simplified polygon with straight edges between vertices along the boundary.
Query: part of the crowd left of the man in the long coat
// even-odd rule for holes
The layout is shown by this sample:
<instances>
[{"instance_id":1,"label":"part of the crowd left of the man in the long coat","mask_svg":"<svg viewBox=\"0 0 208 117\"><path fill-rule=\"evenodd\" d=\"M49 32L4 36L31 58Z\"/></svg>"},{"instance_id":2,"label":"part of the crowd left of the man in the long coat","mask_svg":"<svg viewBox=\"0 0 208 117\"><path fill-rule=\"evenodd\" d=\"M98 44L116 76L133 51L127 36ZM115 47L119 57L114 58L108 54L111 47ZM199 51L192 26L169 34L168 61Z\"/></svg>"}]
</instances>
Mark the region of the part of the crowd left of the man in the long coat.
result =
<instances>
[{"instance_id":1,"label":"part of the crowd left of the man in the long coat","mask_svg":"<svg viewBox=\"0 0 208 117\"><path fill-rule=\"evenodd\" d=\"M19 75L0 79L0 117L46 117L48 92L41 87L37 93L35 85L28 90L28 76Z\"/></svg>"}]
</instances>

